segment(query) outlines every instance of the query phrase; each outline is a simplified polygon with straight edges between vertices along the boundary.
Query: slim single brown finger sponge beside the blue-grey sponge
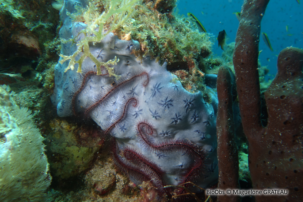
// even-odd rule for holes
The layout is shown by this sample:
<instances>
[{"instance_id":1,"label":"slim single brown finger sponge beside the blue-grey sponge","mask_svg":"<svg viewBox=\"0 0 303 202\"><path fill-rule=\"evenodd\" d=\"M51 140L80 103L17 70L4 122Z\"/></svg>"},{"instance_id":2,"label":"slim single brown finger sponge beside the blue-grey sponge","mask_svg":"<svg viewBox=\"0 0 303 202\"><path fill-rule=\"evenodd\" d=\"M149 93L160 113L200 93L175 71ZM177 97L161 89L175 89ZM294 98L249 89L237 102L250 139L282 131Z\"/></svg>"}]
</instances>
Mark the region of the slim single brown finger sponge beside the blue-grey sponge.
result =
<instances>
[{"instance_id":1,"label":"slim single brown finger sponge beside the blue-grey sponge","mask_svg":"<svg viewBox=\"0 0 303 202\"><path fill-rule=\"evenodd\" d=\"M218 92L218 189L238 189L239 186L239 160L238 148L235 143L235 127L233 116L233 88L235 76L229 67L221 66L217 78ZM237 202L237 195L218 195L220 202Z\"/></svg>"}]
</instances>

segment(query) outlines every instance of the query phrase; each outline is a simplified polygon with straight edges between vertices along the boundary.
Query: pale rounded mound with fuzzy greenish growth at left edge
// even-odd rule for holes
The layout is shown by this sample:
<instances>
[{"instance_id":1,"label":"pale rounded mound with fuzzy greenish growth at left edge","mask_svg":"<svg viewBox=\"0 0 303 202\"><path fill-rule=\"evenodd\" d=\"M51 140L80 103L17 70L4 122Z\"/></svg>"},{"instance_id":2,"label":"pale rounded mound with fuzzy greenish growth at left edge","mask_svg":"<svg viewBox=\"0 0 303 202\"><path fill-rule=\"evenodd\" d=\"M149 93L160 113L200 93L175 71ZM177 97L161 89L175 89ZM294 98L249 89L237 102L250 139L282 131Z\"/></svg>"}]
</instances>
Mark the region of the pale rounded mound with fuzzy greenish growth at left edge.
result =
<instances>
[{"instance_id":1,"label":"pale rounded mound with fuzzy greenish growth at left edge","mask_svg":"<svg viewBox=\"0 0 303 202\"><path fill-rule=\"evenodd\" d=\"M31 111L0 86L0 201L44 201L51 183L43 137Z\"/></svg>"}]
</instances>

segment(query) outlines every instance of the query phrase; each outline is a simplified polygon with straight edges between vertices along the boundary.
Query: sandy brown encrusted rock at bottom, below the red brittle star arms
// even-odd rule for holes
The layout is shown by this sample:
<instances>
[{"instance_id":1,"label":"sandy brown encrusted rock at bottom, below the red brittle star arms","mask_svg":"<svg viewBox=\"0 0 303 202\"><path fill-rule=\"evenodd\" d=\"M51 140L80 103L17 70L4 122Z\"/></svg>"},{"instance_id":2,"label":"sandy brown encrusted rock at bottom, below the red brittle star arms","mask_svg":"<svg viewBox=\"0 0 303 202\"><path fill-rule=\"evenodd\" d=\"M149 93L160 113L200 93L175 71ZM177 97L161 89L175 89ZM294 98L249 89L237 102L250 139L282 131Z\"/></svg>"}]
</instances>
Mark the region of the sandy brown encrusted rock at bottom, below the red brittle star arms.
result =
<instances>
[{"instance_id":1,"label":"sandy brown encrusted rock at bottom, below the red brittle star arms","mask_svg":"<svg viewBox=\"0 0 303 202\"><path fill-rule=\"evenodd\" d=\"M68 192L60 189L49 190L50 202L148 201L140 196L142 189L132 183L125 173L116 170L111 154L108 152L108 145L105 145L103 149L100 157L92 163L91 170L83 176L84 185L77 184L77 190Z\"/></svg>"}]
</instances>

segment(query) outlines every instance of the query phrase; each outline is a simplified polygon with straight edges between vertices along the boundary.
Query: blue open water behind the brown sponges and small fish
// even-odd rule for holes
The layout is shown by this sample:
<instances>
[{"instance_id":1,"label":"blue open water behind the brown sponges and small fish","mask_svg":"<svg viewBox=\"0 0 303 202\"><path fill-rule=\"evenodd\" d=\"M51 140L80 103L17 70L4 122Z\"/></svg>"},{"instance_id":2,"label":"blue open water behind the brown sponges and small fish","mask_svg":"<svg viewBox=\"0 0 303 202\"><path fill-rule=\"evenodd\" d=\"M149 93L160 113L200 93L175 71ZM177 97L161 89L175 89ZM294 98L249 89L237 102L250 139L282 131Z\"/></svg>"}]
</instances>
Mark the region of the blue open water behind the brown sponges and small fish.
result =
<instances>
[{"instance_id":1,"label":"blue open water behind the brown sponges and small fish","mask_svg":"<svg viewBox=\"0 0 303 202\"><path fill-rule=\"evenodd\" d=\"M193 13L206 31L215 37L225 29L229 37L227 43L230 43L235 41L239 25L233 13L241 12L242 4L243 0L179 0L177 9L178 14L185 17L188 12ZM288 46L303 48L303 0L301 4L296 0L271 0L262 19L261 32L267 33L274 52L265 45L261 36L259 50L262 52L259 61L262 66L270 69L270 75L275 75L277 56L282 49ZM218 41L215 42L213 52L218 56L222 54L221 48L218 48Z\"/></svg>"}]
</instances>

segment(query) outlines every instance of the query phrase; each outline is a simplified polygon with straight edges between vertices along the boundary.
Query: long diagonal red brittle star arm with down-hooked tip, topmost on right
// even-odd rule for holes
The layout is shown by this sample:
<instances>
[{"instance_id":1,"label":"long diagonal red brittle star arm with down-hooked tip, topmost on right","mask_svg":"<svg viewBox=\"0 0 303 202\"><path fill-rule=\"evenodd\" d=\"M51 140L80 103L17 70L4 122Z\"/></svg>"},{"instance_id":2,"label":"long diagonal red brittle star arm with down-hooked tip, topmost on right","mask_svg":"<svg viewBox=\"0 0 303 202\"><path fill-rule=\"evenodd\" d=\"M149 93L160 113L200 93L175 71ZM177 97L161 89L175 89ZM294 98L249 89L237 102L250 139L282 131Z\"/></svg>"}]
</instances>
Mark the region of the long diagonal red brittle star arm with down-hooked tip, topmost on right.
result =
<instances>
[{"instance_id":1,"label":"long diagonal red brittle star arm with down-hooked tip, topmost on right","mask_svg":"<svg viewBox=\"0 0 303 202\"><path fill-rule=\"evenodd\" d=\"M145 77L145 80L142 82L142 86L146 87L149 83L148 72L146 71L135 72L135 74L128 76L128 78L120 80L119 83L115 83L115 85L113 85L111 88L108 88L105 93L102 93L99 96L97 96L97 98L92 102L92 104L87 109L85 109L84 115L88 117L90 112L93 109L95 109L95 107L103 103L106 99L108 99L108 97L118 92L119 90L125 88L126 86L130 85L133 81L136 81L142 76Z\"/></svg>"}]
</instances>

